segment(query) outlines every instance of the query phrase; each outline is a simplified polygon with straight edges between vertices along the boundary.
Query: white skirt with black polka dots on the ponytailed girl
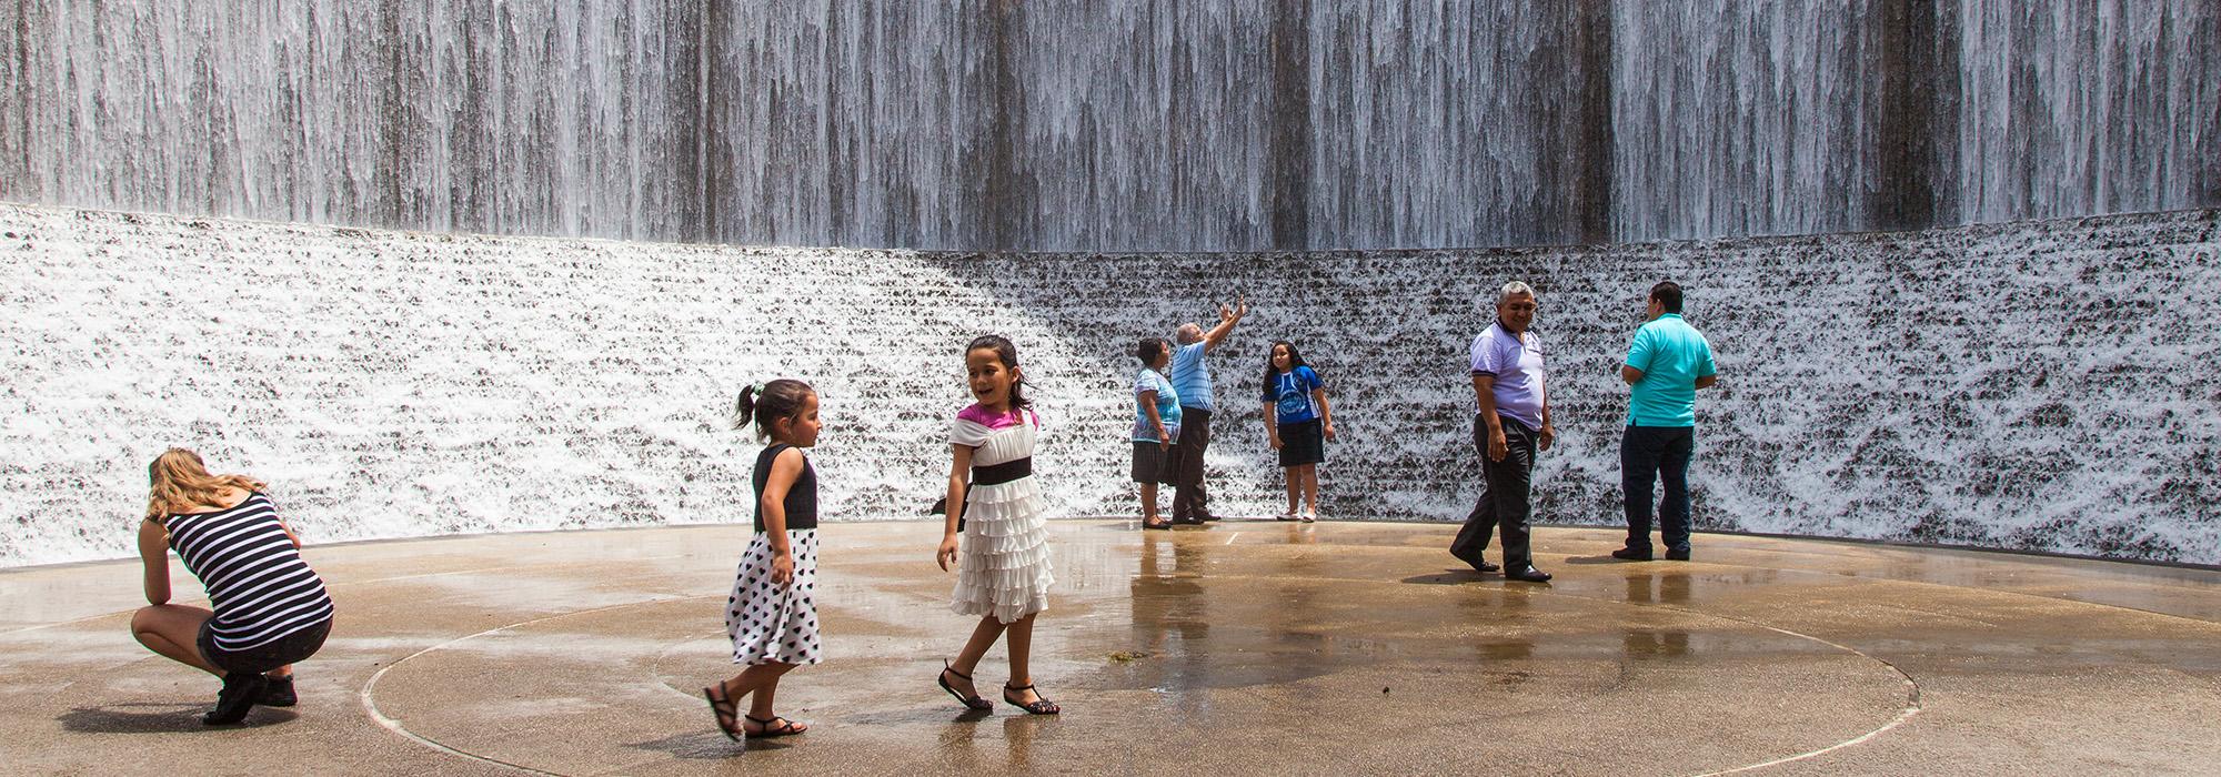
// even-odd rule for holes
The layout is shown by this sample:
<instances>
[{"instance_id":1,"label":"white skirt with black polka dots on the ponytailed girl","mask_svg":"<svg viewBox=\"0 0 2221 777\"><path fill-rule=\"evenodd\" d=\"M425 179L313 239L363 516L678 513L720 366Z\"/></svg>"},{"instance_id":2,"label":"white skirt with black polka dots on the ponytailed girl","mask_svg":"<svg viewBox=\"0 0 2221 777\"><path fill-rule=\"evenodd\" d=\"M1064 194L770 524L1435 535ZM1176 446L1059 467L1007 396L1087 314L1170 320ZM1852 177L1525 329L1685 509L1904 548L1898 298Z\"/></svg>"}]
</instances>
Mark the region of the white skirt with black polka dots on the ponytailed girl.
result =
<instances>
[{"instance_id":1,"label":"white skirt with black polka dots on the ponytailed girl","mask_svg":"<svg viewBox=\"0 0 2221 777\"><path fill-rule=\"evenodd\" d=\"M795 579L771 582L771 537L755 533L740 557L733 595L724 604L724 633L733 637L733 664L817 664L817 531L786 533L795 555Z\"/></svg>"}]
</instances>

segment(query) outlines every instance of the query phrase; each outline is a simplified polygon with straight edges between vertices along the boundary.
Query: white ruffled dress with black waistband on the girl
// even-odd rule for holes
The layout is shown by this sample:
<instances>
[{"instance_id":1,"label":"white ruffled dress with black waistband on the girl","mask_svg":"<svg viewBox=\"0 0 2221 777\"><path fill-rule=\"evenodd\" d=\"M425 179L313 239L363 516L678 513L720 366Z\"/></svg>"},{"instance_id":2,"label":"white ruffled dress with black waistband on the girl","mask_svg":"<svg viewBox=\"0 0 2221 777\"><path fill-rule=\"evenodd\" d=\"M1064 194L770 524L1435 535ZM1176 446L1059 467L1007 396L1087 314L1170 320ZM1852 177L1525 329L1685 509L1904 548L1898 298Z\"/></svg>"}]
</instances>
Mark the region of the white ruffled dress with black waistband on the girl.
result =
<instances>
[{"instance_id":1,"label":"white ruffled dress with black waistband on the girl","mask_svg":"<svg viewBox=\"0 0 2221 777\"><path fill-rule=\"evenodd\" d=\"M977 404L957 413L948 440L973 448L973 466L993 466L1033 455L1039 417L1031 411L995 417ZM957 588L948 608L957 615L995 615L1011 624L1048 608L1048 522L1042 517L1042 486L1033 475L973 486L964 495L964 539L957 551Z\"/></svg>"}]
</instances>

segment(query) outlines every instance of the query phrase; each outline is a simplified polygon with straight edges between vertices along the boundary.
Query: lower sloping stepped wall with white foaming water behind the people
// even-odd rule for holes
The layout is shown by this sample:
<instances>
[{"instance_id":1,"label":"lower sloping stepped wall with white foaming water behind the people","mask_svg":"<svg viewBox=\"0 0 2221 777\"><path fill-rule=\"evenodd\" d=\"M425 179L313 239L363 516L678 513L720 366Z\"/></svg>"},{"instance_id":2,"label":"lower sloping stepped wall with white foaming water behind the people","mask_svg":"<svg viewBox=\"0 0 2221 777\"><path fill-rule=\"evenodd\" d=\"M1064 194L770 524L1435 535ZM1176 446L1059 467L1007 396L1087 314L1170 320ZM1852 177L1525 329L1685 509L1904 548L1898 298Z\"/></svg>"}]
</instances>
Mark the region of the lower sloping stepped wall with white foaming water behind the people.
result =
<instances>
[{"instance_id":1,"label":"lower sloping stepped wall with white foaming water behind the people","mask_svg":"<svg viewBox=\"0 0 2221 777\"><path fill-rule=\"evenodd\" d=\"M1326 375L1337 519L1461 519L1466 346L1541 291L1561 442L1544 522L1619 519L1617 360L1659 278L1719 353L1701 528L2221 564L2221 211L1579 249L957 255L433 235L0 204L0 566L118 557L144 464L267 477L311 542L746 522L740 386L804 377L828 519L919 517L1022 349L1057 515L1133 515L1126 355L1255 306L1213 355L1217 506L1270 515L1266 342ZM919 551L924 557L924 548Z\"/></svg>"}]
</instances>

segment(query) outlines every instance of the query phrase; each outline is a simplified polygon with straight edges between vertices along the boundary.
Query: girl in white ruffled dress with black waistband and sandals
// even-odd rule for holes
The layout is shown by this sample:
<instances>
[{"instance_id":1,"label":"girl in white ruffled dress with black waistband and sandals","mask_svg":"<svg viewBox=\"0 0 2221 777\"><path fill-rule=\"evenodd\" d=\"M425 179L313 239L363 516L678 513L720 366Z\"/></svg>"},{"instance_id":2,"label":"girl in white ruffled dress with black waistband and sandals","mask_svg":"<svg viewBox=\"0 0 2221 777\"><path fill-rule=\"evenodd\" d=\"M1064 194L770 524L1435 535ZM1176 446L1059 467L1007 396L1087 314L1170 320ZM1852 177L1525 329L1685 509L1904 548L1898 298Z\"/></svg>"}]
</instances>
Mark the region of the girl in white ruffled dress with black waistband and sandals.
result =
<instances>
[{"instance_id":1,"label":"girl in white ruffled dress with black waistband and sandals","mask_svg":"<svg viewBox=\"0 0 2221 777\"><path fill-rule=\"evenodd\" d=\"M979 615L979 626L933 682L966 708L993 708L993 702L979 697L971 673L986 648L995 646L995 637L1008 633L1011 682L1002 686L1002 699L1033 715L1057 715L1057 704L1033 688L1026 668L1033 615L1048 608L1048 586L1055 584L1042 488L1033 482L1033 440L1042 422L1026 402L1011 340L973 340L964 349L964 371L979 402L957 413L948 431L955 451L948 466L948 513L933 559L942 571L957 564L951 608L957 615Z\"/></svg>"}]
</instances>

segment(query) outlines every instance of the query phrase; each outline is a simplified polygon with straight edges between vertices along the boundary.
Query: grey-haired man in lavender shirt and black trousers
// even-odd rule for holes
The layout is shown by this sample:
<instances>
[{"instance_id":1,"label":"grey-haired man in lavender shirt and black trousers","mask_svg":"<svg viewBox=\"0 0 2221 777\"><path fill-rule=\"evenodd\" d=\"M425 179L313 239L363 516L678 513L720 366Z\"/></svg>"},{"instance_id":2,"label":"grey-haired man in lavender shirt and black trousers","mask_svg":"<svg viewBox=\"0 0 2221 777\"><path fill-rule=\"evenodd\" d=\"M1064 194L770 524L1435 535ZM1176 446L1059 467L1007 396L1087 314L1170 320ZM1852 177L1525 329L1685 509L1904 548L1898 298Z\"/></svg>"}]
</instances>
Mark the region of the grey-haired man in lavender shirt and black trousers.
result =
<instances>
[{"instance_id":1,"label":"grey-haired man in lavender shirt and black trousers","mask_svg":"<svg viewBox=\"0 0 2221 777\"><path fill-rule=\"evenodd\" d=\"M1488 535L1504 526L1504 579L1548 582L1528 553L1528 484L1535 451L1550 451L1550 393L1544 389L1541 337L1535 324L1535 289L1508 282L1497 291L1497 322L1473 337L1473 446L1481 448L1486 486L1466 515L1466 528L1450 542L1450 555L1493 573L1481 557Z\"/></svg>"}]
</instances>

